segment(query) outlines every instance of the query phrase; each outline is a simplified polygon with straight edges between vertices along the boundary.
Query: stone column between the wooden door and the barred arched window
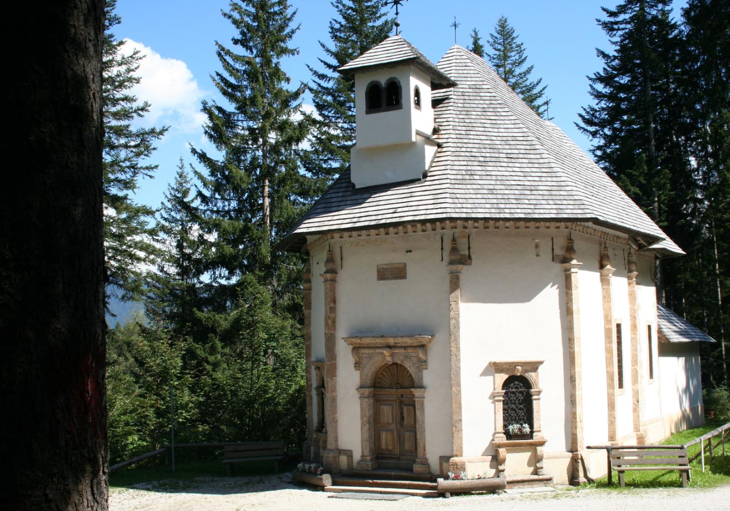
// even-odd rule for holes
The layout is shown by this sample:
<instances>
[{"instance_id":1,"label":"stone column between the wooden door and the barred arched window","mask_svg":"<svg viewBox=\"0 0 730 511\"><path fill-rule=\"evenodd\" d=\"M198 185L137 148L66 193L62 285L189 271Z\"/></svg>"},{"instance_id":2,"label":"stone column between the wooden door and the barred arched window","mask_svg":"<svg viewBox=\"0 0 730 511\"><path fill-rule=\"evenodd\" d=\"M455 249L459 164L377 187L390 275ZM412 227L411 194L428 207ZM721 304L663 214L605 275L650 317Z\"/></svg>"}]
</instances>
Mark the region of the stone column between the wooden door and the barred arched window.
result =
<instances>
[{"instance_id":1,"label":"stone column between the wooden door and the barred arched window","mask_svg":"<svg viewBox=\"0 0 730 511\"><path fill-rule=\"evenodd\" d=\"M461 319L459 308L461 305L461 269L464 268L464 265L461 253L456 246L456 239L451 240L449 262L446 268L449 270L452 456L460 458L464 456L464 431L461 424Z\"/></svg>"}]
</instances>

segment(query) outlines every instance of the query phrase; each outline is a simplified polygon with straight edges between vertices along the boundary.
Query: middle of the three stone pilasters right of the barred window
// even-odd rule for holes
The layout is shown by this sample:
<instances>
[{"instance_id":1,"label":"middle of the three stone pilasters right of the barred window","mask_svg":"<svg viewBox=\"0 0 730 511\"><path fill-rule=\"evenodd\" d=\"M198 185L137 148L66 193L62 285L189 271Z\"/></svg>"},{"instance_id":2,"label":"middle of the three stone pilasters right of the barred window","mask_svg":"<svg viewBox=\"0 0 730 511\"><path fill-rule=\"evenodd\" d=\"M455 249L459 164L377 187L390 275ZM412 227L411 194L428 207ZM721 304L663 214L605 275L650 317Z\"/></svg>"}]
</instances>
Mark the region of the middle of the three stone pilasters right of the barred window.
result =
<instances>
[{"instance_id":1,"label":"middle of the three stone pilasters right of the barred window","mask_svg":"<svg viewBox=\"0 0 730 511\"><path fill-rule=\"evenodd\" d=\"M603 297L603 335L606 356L606 393L608 441L618 442L616 428L616 338L613 321L613 297L611 294L611 276L615 270L611 267L608 247L604 244L601 252L601 292Z\"/></svg>"}]
</instances>

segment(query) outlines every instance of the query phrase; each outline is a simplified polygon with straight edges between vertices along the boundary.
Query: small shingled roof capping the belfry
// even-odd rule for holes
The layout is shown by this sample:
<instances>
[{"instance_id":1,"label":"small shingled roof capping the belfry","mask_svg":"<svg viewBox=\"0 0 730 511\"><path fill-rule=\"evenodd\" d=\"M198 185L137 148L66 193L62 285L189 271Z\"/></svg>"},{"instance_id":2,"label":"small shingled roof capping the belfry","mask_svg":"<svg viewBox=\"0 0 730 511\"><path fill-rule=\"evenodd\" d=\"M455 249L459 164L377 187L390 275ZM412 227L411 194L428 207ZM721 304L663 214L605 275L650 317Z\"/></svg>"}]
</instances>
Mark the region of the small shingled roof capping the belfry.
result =
<instances>
[{"instance_id":1,"label":"small shingled roof capping the belfry","mask_svg":"<svg viewBox=\"0 0 730 511\"><path fill-rule=\"evenodd\" d=\"M350 61L337 69L342 74L353 74L357 71L369 71L384 67L402 66L412 63L425 71L431 77L431 82L439 87L453 87L456 85L434 63L429 61L423 53L403 39L400 35L390 36L385 41L367 50L354 61Z\"/></svg>"}]
</instances>

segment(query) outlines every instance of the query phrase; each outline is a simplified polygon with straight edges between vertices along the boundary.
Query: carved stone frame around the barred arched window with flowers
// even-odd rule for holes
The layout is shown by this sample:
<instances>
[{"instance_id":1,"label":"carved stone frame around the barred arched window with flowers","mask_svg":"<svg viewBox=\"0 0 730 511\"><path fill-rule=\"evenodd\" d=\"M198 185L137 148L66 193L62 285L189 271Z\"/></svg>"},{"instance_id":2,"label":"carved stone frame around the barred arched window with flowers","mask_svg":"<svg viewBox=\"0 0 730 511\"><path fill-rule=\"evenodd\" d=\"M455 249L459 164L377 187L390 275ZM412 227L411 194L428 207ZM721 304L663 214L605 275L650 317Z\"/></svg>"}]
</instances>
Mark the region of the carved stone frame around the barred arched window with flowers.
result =
<instances>
[{"instance_id":1,"label":"carved stone frame around the barred arched window with flowers","mask_svg":"<svg viewBox=\"0 0 730 511\"><path fill-rule=\"evenodd\" d=\"M489 365L494 369L494 436L493 442L499 442L501 445L520 445L520 443L527 442L526 445L531 445L530 442L542 442L545 443L545 437L542 435L542 423L540 419L540 397L542 396L542 389L539 384L538 369L545 362L544 360L507 360L497 361L493 360L489 362ZM530 394L532 396L532 439L531 440L507 440L507 435L504 434L504 416L502 402L504 402L504 390L502 386L504 381L512 375L522 375L528 379L532 389Z\"/></svg>"}]
</instances>

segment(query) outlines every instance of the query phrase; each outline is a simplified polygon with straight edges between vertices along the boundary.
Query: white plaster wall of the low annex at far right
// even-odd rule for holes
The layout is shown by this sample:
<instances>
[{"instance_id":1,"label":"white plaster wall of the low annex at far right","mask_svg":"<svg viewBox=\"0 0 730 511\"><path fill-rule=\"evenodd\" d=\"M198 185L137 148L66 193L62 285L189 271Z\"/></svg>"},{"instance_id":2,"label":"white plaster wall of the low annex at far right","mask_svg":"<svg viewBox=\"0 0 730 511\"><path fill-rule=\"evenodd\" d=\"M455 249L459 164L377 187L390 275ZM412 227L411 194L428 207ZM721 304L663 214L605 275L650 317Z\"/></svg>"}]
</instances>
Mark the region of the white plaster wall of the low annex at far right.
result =
<instances>
[{"instance_id":1,"label":"white plaster wall of the low annex at far right","mask_svg":"<svg viewBox=\"0 0 730 511\"><path fill-rule=\"evenodd\" d=\"M699 343L659 343L658 351L664 416L702 405Z\"/></svg>"}]
</instances>

